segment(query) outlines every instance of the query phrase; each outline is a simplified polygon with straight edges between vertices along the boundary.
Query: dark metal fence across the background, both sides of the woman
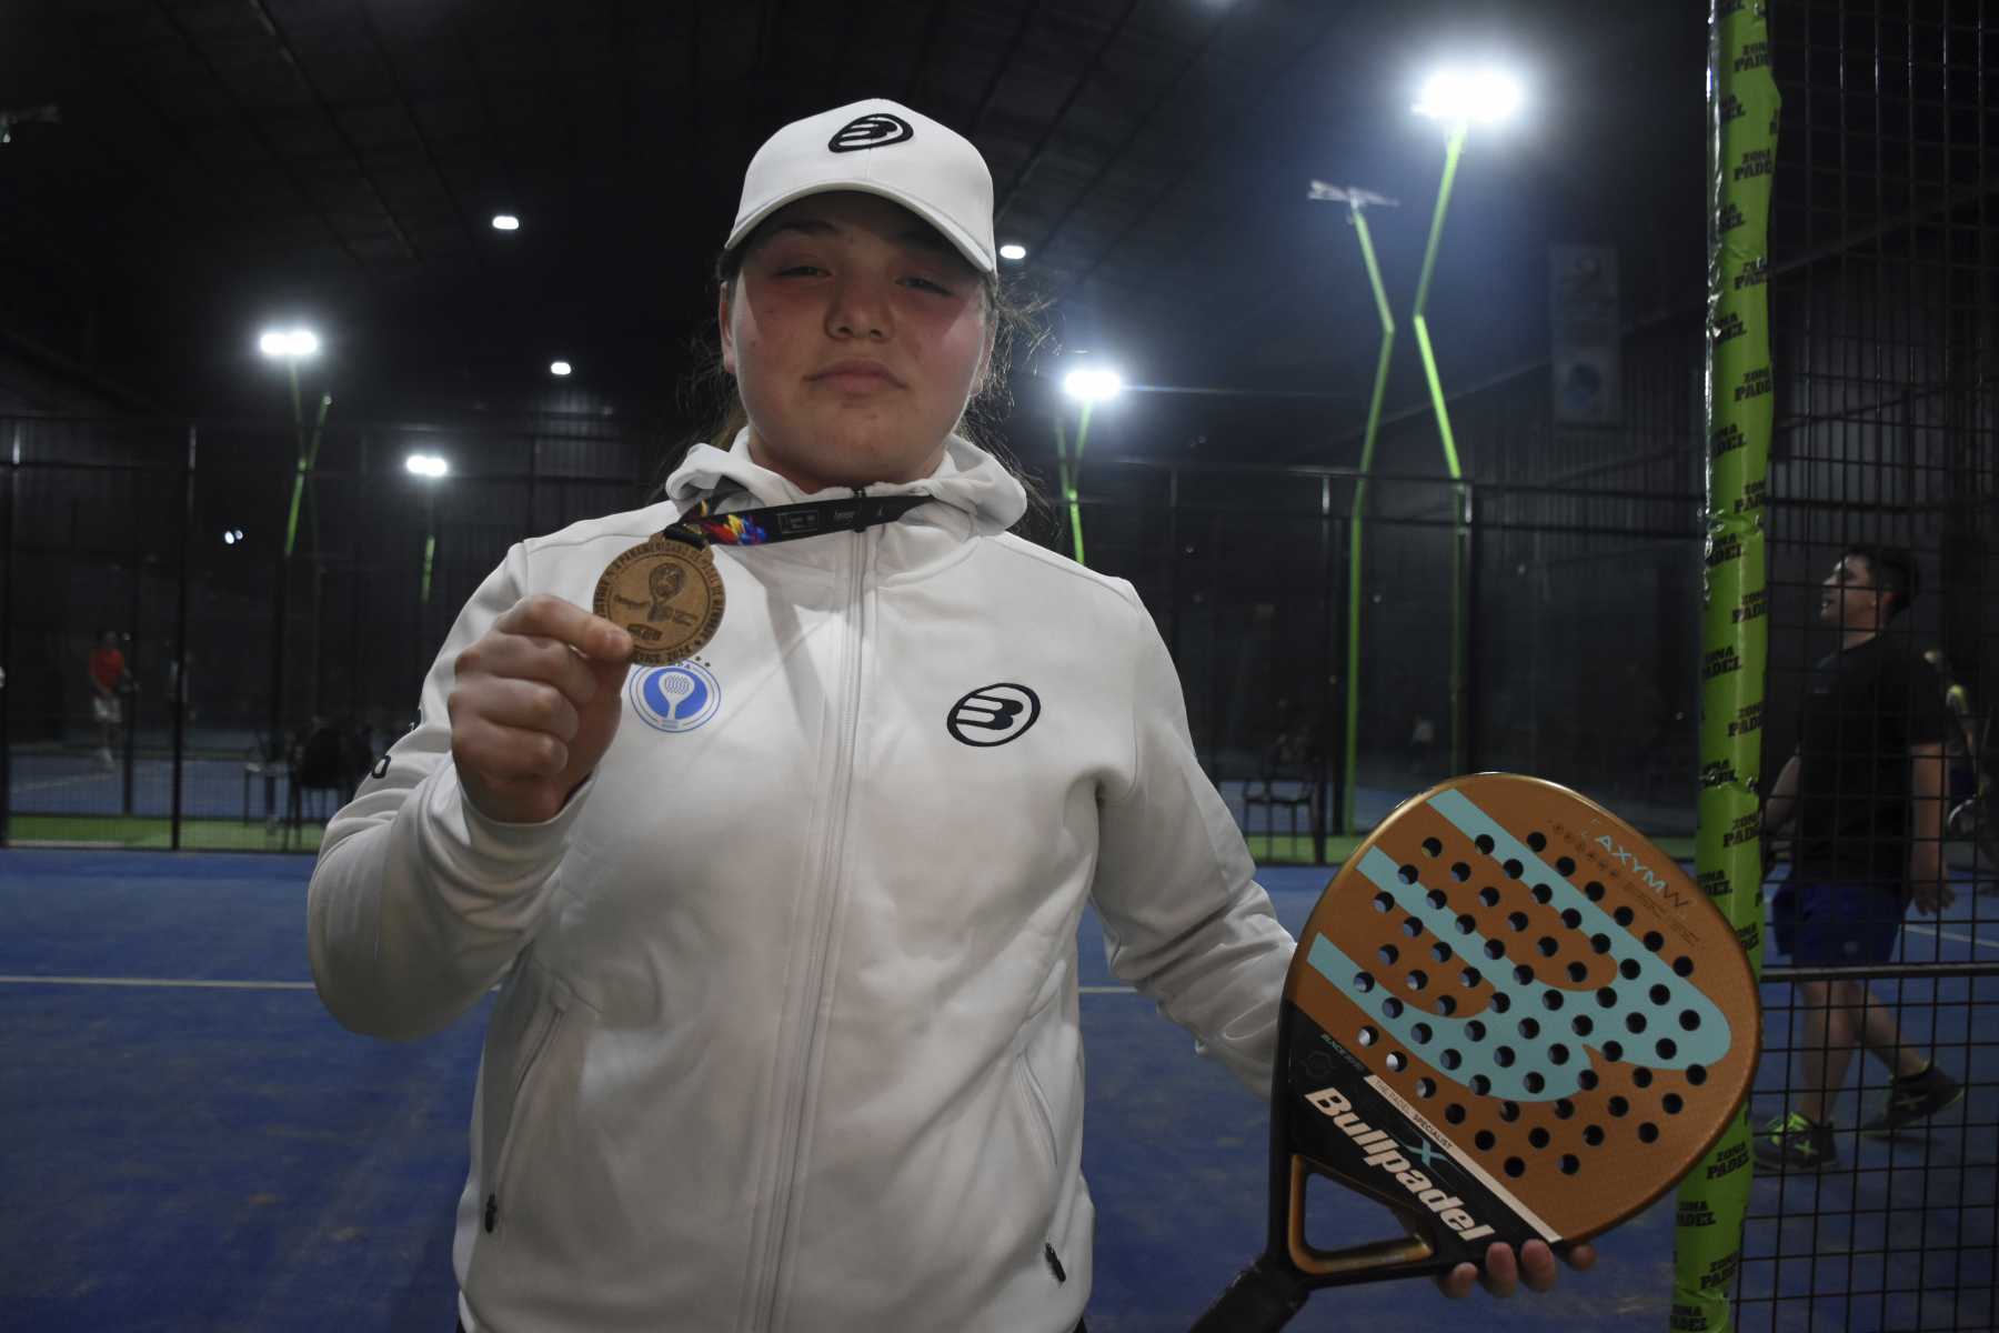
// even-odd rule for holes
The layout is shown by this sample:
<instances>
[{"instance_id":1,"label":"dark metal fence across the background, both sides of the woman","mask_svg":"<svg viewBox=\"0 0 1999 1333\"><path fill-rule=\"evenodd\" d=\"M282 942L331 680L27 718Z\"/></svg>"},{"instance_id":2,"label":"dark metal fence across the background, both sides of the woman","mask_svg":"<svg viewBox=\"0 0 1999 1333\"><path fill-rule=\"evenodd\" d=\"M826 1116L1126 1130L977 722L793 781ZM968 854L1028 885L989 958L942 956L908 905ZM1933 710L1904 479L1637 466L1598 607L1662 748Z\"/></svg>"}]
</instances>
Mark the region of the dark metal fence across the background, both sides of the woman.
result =
<instances>
[{"instance_id":1,"label":"dark metal fence across the background, both sides of the woman","mask_svg":"<svg viewBox=\"0 0 1999 1333\"><path fill-rule=\"evenodd\" d=\"M1503 456L1481 440L1519 428L1531 388L1465 404L1473 458ZM1391 424L1389 444L1427 450L1425 426ZM288 424L18 418L0 440L6 835L170 847L314 845L306 815L406 725L508 544L644 504L668 446L574 422L332 426L302 476ZM414 476L412 452L452 472ZM1599 476L1469 484L1469 753L1687 833L1697 496ZM1085 474L1091 564L1153 608L1199 753L1267 859L1323 861L1343 831L1353 488L1341 468ZM1375 476L1353 628L1363 827L1449 767L1451 532L1445 482ZM110 713L90 675L106 634L124 667Z\"/></svg>"}]
</instances>

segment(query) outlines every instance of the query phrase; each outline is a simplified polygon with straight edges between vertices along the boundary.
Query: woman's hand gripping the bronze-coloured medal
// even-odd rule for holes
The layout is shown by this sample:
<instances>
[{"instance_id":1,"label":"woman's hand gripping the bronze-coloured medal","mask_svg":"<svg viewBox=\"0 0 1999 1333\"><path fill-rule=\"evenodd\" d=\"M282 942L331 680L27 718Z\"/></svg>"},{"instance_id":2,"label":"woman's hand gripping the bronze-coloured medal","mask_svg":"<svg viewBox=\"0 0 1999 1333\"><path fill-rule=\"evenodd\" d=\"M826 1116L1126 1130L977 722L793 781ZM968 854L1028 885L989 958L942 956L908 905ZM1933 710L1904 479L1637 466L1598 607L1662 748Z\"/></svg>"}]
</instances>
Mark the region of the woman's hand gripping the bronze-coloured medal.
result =
<instances>
[{"instance_id":1,"label":"woman's hand gripping the bronze-coloured medal","mask_svg":"<svg viewBox=\"0 0 1999 1333\"><path fill-rule=\"evenodd\" d=\"M632 636L536 594L458 654L452 761L472 805L502 823L556 817L618 735Z\"/></svg>"}]
</instances>

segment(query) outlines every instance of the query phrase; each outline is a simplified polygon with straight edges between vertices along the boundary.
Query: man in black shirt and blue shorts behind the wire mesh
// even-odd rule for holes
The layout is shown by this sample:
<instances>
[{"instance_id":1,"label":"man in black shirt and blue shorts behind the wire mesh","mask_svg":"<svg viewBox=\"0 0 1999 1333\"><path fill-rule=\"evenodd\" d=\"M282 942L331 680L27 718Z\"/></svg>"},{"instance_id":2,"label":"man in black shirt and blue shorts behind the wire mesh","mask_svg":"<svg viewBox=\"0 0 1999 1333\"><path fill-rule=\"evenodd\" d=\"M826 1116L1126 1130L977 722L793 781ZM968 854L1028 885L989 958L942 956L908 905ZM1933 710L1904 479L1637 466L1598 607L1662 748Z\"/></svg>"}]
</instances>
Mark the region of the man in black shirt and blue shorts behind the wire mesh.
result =
<instances>
[{"instance_id":1,"label":"man in black shirt and blue shorts behind the wire mesh","mask_svg":"<svg viewBox=\"0 0 1999 1333\"><path fill-rule=\"evenodd\" d=\"M1765 837L1795 823L1791 877L1771 901L1777 947L1801 967L1887 963L1909 901L1951 903L1943 871L1943 765L1951 715L1935 671L1887 624L1915 600L1907 552L1851 548L1825 580L1819 620L1839 632L1799 709L1797 753L1763 811ZM1803 981L1803 1085L1755 1139L1767 1169L1837 1161L1831 1107L1865 1045L1895 1081L1861 1133L1893 1135L1963 1097L1865 981Z\"/></svg>"}]
</instances>

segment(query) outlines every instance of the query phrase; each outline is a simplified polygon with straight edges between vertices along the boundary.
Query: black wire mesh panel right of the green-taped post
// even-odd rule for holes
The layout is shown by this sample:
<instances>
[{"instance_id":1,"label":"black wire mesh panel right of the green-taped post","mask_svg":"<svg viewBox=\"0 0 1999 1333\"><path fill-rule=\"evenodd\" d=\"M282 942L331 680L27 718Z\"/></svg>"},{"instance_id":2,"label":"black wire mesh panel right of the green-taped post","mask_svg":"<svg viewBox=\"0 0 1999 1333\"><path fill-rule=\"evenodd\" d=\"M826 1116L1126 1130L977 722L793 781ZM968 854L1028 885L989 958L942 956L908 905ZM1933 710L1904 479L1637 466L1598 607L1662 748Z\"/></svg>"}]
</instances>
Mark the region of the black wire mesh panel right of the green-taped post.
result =
<instances>
[{"instance_id":1,"label":"black wire mesh panel right of the green-taped post","mask_svg":"<svg viewBox=\"0 0 1999 1333\"><path fill-rule=\"evenodd\" d=\"M1813 0L1771 6L1771 56L1765 773L1795 755L1797 807L1739 1325L1989 1329L1999 50L1977 8ZM1903 923L1939 843L1955 901Z\"/></svg>"}]
</instances>

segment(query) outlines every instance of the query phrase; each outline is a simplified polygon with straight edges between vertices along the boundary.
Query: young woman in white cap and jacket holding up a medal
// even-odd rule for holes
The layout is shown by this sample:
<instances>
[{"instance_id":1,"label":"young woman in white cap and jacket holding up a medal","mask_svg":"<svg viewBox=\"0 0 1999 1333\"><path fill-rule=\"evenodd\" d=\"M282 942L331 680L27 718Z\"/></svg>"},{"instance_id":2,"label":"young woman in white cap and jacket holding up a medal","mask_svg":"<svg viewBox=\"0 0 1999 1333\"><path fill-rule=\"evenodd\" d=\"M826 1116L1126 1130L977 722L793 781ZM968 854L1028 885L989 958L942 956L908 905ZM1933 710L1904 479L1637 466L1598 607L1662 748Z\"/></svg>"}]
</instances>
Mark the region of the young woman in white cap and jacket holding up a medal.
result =
<instances>
[{"instance_id":1,"label":"young woman in white cap and jacket holding up a medal","mask_svg":"<svg viewBox=\"0 0 1999 1333\"><path fill-rule=\"evenodd\" d=\"M418 1037L502 981L466 1329L1079 1327L1085 899L1267 1091L1291 939L1165 646L1007 536L1023 490L958 434L994 272L964 138L892 102L780 130L722 262L748 424L516 546L328 829L342 1023Z\"/></svg>"}]
</instances>

